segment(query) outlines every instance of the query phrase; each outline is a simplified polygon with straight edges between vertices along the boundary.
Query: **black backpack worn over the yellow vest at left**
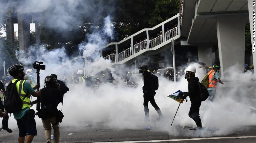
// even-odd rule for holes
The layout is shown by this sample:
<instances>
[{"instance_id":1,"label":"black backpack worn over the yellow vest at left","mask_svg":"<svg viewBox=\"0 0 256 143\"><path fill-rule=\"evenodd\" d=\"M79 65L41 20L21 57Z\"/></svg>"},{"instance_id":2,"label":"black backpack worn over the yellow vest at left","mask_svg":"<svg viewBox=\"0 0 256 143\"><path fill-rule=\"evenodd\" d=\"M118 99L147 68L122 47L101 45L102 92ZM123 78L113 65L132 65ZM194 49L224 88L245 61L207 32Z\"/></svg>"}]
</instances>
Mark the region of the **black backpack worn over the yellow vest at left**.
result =
<instances>
[{"instance_id":1,"label":"black backpack worn over the yellow vest at left","mask_svg":"<svg viewBox=\"0 0 256 143\"><path fill-rule=\"evenodd\" d=\"M20 99L19 93L21 94L21 85L22 81L20 81L20 87L19 87L19 93L17 92L16 84L20 81L17 79L14 83L10 83L6 90L5 90L5 98L4 98L4 106L5 110L8 113L15 113L22 109L22 101L26 98L26 96L23 98L23 100Z\"/></svg>"}]
</instances>

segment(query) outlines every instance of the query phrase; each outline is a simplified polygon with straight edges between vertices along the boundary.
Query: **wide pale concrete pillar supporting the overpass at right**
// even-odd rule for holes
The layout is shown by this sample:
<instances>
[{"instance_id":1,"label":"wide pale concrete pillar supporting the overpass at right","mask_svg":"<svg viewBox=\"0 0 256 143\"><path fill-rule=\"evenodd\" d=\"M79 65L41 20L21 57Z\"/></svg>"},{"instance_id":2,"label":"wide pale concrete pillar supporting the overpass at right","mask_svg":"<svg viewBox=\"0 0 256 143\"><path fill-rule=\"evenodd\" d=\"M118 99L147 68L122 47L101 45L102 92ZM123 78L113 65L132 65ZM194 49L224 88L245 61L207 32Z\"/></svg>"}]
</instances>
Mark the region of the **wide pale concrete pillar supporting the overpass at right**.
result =
<instances>
[{"instance_id":1,"label":"wide pale concrete pillar supporting the overpass at right","mask_svg":"<svg viewBox=\"0 0 256 143\"><path fill-rule=\"evenodd\" d=\"M245 16L218 16L217 37L222 79L229 74L225 71L234 65L238 71L244 72Z\"/></svg>"}]
</instances>

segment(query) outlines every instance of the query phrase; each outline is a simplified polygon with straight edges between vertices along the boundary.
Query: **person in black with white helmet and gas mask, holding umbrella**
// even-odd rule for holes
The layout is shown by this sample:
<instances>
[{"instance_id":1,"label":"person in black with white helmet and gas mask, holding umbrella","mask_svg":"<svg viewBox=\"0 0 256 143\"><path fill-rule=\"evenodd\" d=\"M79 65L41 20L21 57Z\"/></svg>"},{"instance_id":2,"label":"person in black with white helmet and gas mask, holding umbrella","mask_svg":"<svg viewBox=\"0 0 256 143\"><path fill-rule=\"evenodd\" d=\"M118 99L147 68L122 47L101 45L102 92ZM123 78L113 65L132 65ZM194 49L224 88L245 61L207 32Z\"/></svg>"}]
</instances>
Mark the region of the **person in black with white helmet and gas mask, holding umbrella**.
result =
<instances>
[{"instance_id":1,"label":"person in black with white helmet and gas mask, holding umbrella","mask_svg":"<svg viewBox=\"0 0 256 143\"><path fill-rule=\"evenodd\" d=\"M200 91L199 91L199 85L198 85L198 77L195 77L196 68L194 66L189 66L185 73L185 79L188 81L188 92L183 92L182 95L180 95L181 99L185 99L187 96L189 96L189 99L191 101L191 107L188 112L188 116L192 118L198 128L202 128L202 122L199 116L199 108L201 106L201 101L198 100Z\"/></svg>"}]
</instances>

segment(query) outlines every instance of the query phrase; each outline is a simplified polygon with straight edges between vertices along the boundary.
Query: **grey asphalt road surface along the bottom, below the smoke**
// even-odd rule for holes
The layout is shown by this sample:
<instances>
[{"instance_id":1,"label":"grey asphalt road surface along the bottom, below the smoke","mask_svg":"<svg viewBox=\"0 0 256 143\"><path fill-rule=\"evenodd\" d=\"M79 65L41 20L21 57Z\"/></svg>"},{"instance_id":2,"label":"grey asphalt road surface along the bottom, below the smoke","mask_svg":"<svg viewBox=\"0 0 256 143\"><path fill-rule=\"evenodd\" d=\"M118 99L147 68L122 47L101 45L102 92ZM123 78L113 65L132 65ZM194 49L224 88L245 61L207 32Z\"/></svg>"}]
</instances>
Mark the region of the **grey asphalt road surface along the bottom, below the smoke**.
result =
<instances>
[{"instance_id":1,"label":"grey asphalt road surface along the bottom, below the smoke","mask_svg":"<svg viewBox=\"0 0 256 143\"><path fill-rule=\"evenodd\" d=\"M60 142L64 143L86 143L86 142L179 142L179 143L255 143L256 126L245 127L241 131L237 131L225 136L200 137L197 135L185 135L186 133L196 134L195 131L183 129L183 127L174 126L178 132L184 135L170 135L167 132L159 131L152 128L151 130L127 130L127 129L111 129L104 124L94 125L92 127L71 127L60 126ZM200 131L198 131L200 132ZM70 134L70 135L69 135ZM0 141L2 143L17 142L18 129L13 129L13 133L7 133L5 130L0 131ZM33 142L45 142L44 129L37 126L37 136Z\"/></svg>"}]
</instances>

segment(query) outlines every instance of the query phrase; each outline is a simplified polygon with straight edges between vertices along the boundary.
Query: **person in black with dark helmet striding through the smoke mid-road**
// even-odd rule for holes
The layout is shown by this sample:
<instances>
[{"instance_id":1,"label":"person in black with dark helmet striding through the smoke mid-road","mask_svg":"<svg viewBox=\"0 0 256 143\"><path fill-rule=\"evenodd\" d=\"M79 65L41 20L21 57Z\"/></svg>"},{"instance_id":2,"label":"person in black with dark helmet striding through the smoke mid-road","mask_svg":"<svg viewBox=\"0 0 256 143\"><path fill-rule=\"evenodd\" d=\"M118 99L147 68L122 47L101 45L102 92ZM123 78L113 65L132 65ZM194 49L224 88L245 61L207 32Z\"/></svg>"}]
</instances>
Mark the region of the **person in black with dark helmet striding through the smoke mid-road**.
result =
<instances>
[{"instance_id":1,"label":"person in black with dark helmet striding through the smoke mid-road","mask_svg":"<svg viewBox=\"0 0 256 143\"><path fill-rule=\"evenodd\" d=\"M144 86L142 87L142 92L143 92L143 98L144 98L144 112L145 112L145 118L146 120L149 120L149 109L148 109L148 102L151 103L151 105L156 109L158 115L159 115L159 119L161 119L162 117L162 113L160 108L158 107L158 105L155 102L155 98L154 96L156 95L156 92L153 90L153 80L151 79L151 73L147 71L148 70L148 66L146 64L142 64L139 67L139 73L142 73L143 75L143 83Z\"/></svg>"}]
</instances>

